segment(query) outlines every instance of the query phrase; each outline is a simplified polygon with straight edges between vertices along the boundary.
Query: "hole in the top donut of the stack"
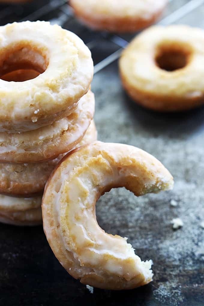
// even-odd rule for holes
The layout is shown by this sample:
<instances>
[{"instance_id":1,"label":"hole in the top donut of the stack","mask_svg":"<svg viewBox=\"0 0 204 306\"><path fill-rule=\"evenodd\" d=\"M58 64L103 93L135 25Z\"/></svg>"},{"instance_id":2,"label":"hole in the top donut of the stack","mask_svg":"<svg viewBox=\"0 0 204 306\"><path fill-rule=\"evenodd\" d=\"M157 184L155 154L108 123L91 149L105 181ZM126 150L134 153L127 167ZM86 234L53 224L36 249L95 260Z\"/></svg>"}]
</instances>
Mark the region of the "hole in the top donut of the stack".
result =
<instances>
[{"instance_id":1,"label":"hole in the top donut of the stack","mask_svg":"<svg viewBox=\"0 0 204 306\"><path fill-rule=\"evenodd\" d=\"M32 80L48 66L47 50L18 43L0 51L0 78L8 82Z\"/></svg>"}]
</instances>

